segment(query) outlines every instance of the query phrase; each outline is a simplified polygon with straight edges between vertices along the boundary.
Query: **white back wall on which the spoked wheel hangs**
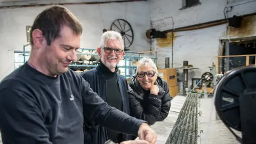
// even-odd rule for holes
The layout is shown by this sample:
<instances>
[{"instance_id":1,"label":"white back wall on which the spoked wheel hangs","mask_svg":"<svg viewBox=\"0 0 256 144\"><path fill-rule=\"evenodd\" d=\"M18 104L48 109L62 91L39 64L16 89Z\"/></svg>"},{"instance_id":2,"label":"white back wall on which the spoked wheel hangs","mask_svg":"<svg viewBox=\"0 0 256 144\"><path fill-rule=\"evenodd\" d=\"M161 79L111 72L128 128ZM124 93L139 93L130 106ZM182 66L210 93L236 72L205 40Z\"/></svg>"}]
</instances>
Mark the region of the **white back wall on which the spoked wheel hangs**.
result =
<instances>
[{"instance_id":1,"label":"white back wall on which the spoked wheel hangs","mask_svg":"<svg viewBox=\"0 0 256 144\"><path fill-rule=\"evenodd\" d=\"M148 51L150 43L145 38L150 28L149 3L129 2L90 5L67 5L82 22L81 47L96 49L100 42L102 29L110 29L116 19L127 20L134 31L132 51ZM26 26L32 25L38 13L46 7L26 7L0 9L0 81L14 70L14 50L22 50L27 44ZM29 48L27 48L29 50Z\"/></svg>"}]
</instances>

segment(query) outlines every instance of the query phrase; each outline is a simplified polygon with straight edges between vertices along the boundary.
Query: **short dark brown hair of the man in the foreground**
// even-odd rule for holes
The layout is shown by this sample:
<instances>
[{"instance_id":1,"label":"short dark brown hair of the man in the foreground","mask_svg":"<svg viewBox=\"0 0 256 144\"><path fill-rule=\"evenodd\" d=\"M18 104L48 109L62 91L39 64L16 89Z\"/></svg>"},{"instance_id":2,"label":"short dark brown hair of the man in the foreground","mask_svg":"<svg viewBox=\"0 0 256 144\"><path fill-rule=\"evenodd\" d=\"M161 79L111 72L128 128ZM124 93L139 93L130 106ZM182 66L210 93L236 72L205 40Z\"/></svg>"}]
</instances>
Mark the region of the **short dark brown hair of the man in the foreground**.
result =
<instances>
[{"instance_id":1,"label":"short dark brown hair of the man in the foreground","mask_svg":"<svg viewBox=\"0 0 256 144\"><path fill-rule=\"evenodd\" d=\"M82 34L81 22L66 7L54 5L39 13L30 30L30 44L34 45L32 33L40 29L46 38L47 45L51 45L55 38L60 36L62 26L68 26L75 34Z\"/></svg>"}]
</instances>

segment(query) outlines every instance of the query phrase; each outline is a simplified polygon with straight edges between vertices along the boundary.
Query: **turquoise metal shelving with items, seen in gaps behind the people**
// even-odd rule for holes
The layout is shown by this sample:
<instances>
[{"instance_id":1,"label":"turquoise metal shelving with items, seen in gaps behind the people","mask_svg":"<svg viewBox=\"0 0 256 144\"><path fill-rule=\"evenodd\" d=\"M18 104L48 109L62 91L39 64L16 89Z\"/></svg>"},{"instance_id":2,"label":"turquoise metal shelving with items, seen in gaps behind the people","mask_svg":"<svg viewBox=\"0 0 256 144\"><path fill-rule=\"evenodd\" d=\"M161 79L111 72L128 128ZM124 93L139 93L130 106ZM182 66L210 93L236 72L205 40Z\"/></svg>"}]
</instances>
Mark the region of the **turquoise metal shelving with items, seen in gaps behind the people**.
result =
<instances>
[{"instance_id":1,"label":"turquoise metal shelving with items, seen in gaps behind the people","mask_svg":"<svg viewBox=\"0 0 256 144\"><path fill-rule=\"evenodd\" d=\"M30 51L26 51L26 48L29 46L23 45L23 51L14 51L14 68L18 68L22 66L29 58ZM148 52L125 52L125 55L121 61L119 61L118 68L121 71L121 75L126 78L130 78L135 74L137 68L137 62L146 56ZM156 52L155 54L156 55ZM151 59L154 59L155 63L157 63L157 58L155 56L149 56ZM69 68L82 73L83 71L95 68L100 63L100 57L96 49L85 49L79 48L77 50L77 61L74 61L69 65Z\"/></svg>"}]
</instances>

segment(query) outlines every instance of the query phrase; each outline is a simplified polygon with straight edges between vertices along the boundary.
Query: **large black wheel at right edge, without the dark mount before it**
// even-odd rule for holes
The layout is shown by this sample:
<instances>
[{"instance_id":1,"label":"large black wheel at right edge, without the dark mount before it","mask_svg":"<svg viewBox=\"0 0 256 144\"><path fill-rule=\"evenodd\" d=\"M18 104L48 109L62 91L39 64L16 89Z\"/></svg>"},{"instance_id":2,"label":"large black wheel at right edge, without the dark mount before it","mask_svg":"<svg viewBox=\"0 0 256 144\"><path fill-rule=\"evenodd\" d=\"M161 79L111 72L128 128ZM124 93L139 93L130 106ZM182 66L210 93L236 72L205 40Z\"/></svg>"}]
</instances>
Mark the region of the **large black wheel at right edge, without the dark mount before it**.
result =
<instances>
[{"instance_id":1,"label":"large black wheel at right edge, without the dark mount before it","mask_svg":"<svg viewBox=\"0 0 256 144\"><path fill-rule=\"evenodd\" d=\"M222 122L237 131L241 129L239 99L256 91L256 67L238 67L223 75L214 90L215 108ZM230 130L230 129L229 129Z\"/></svg>"}]
</instances>

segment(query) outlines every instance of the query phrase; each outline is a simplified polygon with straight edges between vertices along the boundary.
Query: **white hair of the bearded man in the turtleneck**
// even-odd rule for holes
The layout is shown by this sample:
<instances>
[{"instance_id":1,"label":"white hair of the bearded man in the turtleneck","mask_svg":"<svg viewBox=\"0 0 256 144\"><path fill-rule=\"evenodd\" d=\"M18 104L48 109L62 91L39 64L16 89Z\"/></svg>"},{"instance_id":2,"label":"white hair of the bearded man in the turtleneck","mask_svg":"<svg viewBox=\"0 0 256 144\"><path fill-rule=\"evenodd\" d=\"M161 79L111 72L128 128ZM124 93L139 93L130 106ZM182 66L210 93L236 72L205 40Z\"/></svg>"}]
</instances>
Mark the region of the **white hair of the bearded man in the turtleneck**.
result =
<instances>
[{"instance_id":1,"label":"white hair of the bearded man in the turtleneck","mask_svg":"<svg viewBox=\"0 0 256 144\"><path fill-rule=\"evenodd\" d=\"M124 50L124 40L122 38L122 35L119 32L114 30L109 30L102 34L101 40L100 40L101 49L106 45L106 42L110 39L118 39L122 44L122 50Z\"/></svg>"}]
</instances>

